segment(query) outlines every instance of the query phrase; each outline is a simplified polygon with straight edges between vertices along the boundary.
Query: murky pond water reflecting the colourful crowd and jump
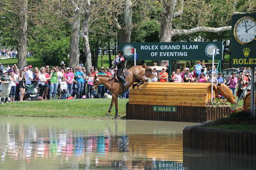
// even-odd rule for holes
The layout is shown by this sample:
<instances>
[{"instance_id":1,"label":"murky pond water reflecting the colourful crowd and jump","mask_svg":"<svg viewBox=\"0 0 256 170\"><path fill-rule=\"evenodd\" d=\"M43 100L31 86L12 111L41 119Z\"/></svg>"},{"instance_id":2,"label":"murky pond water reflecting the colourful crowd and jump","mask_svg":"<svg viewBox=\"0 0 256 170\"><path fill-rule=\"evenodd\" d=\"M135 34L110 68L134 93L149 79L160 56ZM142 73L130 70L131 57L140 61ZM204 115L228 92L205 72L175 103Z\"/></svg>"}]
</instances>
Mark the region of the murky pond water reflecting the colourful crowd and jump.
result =
<instances>
[{"instance_id":1,"label":"murky pond water reflecting the colourful crowd and jump","mask_svg":"<svg viewBox=\"0 0 256 170\"><path fill-rule=\"evenodd\" d=\"M0 117L0 170L207 170L219 155L183 154L187 125L195 123Z\"/></svg>"}]
</instances>

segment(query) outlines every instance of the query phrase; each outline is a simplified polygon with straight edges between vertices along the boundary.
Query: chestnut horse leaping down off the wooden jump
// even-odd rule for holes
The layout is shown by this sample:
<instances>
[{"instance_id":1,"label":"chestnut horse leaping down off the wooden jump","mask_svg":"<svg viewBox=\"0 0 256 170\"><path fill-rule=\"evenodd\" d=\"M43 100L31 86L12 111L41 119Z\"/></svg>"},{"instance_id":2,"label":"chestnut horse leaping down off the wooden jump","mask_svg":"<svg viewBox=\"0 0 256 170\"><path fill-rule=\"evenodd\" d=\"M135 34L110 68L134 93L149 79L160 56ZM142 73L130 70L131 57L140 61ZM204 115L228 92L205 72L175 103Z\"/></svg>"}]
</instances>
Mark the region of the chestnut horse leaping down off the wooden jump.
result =
<instances>
[{"instance_id":1,"label":"chestnut horse leaping down off the wooden jump","mask_svg":"<svg viewBox=\"0 0 256 170\"><path fill-rule=\"evenodd\" d=\"M115 80L115 78L111 78L108 75L91 75L94 77L94 88L98 87L98 85L104 85L112 94L112 100L110 103L110 107L108 109L107 115L112 110L112 106L115 102L115 118L118 118L118 101L117 97L119 94L125 92L131 85L133 85L133 88L137 86L139 89L139 86L147 81L147 79L143 78L143 76L146 76L148 78L152 78L152 70L146 65L135 65L128 69L128 76L126 77L126 81L128 82L128 85L124 86L121 82L118 82ZM137 84L134 84L137 82Z\"/></svg>"}]
</instances>

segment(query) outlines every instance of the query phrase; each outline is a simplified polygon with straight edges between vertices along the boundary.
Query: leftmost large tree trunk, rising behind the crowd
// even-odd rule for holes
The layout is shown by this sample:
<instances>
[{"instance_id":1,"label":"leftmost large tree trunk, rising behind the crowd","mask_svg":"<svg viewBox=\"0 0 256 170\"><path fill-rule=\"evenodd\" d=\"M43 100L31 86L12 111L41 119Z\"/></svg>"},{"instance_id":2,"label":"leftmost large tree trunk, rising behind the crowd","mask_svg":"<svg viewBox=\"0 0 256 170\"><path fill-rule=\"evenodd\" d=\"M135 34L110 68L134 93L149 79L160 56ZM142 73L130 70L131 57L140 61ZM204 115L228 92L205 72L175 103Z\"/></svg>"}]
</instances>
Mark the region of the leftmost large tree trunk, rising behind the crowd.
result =
<instances>
[{"instance_id":1,"label":"leftmost large tree trunk, rising behind the crowd","mask_svg":"<svg viewBox=\"0 0 256 170\"><path fill-rule=\"evenodd\" d=\"M20 1L20 29L18 44L18 66L19 68L26 65L27 56L27 0Z\"/></svg>"}]
</instances>

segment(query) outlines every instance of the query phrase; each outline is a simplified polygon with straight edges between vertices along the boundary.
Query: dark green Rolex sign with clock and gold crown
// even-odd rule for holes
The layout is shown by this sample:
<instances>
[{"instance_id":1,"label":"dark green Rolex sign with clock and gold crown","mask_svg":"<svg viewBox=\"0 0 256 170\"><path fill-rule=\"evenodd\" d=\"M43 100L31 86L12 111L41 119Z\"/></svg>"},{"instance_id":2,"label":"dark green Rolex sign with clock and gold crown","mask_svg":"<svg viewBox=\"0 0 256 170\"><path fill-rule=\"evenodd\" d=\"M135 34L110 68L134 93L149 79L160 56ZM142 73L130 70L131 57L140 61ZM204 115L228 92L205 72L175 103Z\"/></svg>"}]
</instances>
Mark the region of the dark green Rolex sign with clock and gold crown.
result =
<instances>
[{"instance_id":1,"label":"dark green Rolex sign with clock and gold crown","mask_svg":"<svg viewBox=\"0 0 256 170\"><path fill-rule=\"evenodd\" d=\"M231 65L256 67L256 14L232 16Z\"/></svg>"}]
</instances>

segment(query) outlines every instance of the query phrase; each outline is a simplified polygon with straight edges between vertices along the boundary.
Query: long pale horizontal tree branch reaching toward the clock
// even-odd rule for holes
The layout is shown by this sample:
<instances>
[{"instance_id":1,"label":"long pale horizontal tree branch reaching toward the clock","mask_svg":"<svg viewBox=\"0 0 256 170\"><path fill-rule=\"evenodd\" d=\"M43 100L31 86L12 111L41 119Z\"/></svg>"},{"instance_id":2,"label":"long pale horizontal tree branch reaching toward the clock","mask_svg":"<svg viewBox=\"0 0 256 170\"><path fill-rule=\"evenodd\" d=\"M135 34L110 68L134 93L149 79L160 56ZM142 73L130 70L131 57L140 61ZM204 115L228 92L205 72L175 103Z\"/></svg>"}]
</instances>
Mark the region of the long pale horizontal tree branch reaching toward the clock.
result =
<instances>
[{"instance_id":1,"label":"long pale horizontal tree branch reaching toward the clock","mask_svg":"<svg viewBox=\"0 0 256 170\"><path fill-rule=\"evenodd\" d=\"M201 32L201 31L210 32L210 33L219 33L219 32L227 31L227 30L231 30L231 26L223 26L223 27L218 27L218 28L198 26L198 27L191 28L191 29L173 30L172 33L173 33L173 35L186 35L186 34L197 33L197 32Z\"/></svg>"}]
</instances>

